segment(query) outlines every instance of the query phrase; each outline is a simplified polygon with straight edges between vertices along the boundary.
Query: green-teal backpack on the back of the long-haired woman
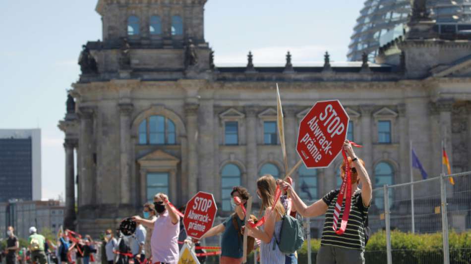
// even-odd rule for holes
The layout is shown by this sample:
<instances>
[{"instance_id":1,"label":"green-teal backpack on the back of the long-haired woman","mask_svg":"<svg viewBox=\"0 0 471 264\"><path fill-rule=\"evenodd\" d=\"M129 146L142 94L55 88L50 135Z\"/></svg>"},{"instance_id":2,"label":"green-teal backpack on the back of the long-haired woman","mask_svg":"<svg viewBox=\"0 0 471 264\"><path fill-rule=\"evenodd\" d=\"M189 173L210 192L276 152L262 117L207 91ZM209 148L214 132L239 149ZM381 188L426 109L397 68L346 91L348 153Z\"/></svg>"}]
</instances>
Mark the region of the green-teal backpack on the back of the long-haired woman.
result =
<instances>
[{"instance_id":1,"label":"green-teal backpack on the back of the long-haired woman","mask_svg":"<svg viewBox=\"0 0 471 264\"><path fill-rule=\"evenodd\" d=\"M278 242L276 235L275 241L281 252L285 254L293 254L296 250L300 249L304 243L302 220L285 213L282 221L280 241ZM275 249L275 243L273 243L273 249Z\"/></svg>"}]
</instances>

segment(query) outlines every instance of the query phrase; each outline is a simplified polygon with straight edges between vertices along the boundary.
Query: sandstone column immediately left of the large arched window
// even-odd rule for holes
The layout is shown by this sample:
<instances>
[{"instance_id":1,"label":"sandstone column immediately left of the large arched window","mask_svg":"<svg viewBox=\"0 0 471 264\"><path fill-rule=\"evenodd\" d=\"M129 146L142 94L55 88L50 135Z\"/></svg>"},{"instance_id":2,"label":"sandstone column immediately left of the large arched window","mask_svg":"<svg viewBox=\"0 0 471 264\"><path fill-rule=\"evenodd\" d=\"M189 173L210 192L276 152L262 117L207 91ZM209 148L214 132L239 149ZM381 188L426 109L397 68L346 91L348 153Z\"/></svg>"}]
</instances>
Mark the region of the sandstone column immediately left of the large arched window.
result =
<instances>
[{"instance_id":1,"label":"sandstone column immediately left of the large arched window","mask_svg":"<svg viewBox=\"0 0 471 264\"><path fill-rule=\"evenodd\" d=\"M119 129L120 129L120 204L131 203L131 164L129 150L131 149L131 113L132 104L119 104Z\"/></svg>"}]
</instances>

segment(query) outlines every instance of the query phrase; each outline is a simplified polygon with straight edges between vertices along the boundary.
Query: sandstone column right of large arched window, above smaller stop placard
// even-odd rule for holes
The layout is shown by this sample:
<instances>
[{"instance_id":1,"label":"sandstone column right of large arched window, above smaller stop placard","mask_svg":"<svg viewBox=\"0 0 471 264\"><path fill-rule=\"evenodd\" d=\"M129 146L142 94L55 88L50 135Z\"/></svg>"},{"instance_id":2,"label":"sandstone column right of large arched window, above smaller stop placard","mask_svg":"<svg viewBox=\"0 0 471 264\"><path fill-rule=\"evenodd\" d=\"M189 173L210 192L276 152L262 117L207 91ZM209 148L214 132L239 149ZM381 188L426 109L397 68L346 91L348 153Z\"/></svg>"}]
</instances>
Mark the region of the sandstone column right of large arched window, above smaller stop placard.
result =
<instances>
[{"instance_id":1,"label":"sandstone column right of large arched window, above smaller stop placard","mask_svg":"<svg viewBox=\"0 0 471 264\"><path fill-rule=\"evenodd\" d=\"M197 128L198 128L198 108L197 104L186 104L186 133L188 137L188 192L185 197L187 201L198 190L198 153L197 146Z\"/></svg>"}]
</instances>

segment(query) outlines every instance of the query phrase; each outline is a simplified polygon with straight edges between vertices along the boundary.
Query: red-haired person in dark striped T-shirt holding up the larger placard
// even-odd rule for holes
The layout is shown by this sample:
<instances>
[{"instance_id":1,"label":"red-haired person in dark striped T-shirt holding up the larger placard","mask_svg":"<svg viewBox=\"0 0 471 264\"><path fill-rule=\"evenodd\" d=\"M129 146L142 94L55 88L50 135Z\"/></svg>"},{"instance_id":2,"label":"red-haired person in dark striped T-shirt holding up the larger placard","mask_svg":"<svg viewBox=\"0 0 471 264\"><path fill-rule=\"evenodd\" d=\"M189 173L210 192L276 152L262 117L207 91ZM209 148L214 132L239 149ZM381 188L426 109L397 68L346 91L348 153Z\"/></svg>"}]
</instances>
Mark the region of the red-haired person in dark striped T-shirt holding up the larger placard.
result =
<instances>
[{"instance_id":1,"label":"red-haired person in dark striped T-shirt holding up the larger placard","mask_svg":"<svg viewBox=\"0 0 471 264\"><path fill-rule=\"evenodd\" d=\"M347 153L350 166L344 162L340 166L342 179L347 175L346 168L350 167L351 187L351 211L345 230L341 228L342 216L345 209L345 201L342 206L337 205L337 196L340 190L332 190L322 199L310 206L306 206L287 182L281 182L283 189L291 193L293 206L304 217L315 217L325 214L324 230L322 232L321 247L317 253L317 263L322 264L364 264L363 253L365 250L365 221L368 216L368 208L371 202L371 181L366 172L363 160L356 157L352 144L346 140L344 151ZM358 184L361 182L361 189ZM336 207L338 210L336 210ZM337 214L336 211L340 213ZM334 222L337 225L334 226ZM335 228L335 229L334 229ZM339 229L340 228L340 229Z\"/></svg>"}]
</instances>

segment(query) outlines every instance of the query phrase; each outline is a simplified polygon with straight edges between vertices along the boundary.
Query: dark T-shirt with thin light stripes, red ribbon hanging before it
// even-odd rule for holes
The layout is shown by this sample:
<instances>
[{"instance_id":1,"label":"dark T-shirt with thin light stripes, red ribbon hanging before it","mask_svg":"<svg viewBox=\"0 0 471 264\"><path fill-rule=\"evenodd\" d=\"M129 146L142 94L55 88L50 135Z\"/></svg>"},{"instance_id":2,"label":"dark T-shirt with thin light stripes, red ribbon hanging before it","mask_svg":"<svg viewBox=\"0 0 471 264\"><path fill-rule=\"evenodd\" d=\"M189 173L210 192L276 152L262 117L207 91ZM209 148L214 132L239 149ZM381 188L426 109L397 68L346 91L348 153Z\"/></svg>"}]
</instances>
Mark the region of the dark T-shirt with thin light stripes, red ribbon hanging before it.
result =
<instances>
[{"instance_id":1,"label":"dark T-shirt with thin light stripes, red ribbon hanging before it","mask_svg":"<svg viewBox=\"0 0 471 264\"><path fill-rule=\"evenodd\" d=\"M332 225L334 224L334 208L337 203L339 190L330 191L322 200L329 206L325 213L324 230L322 231L321 245L330 245L335 247L365 250L365 231L364 222L368 216L368 207L363 206L361 200L361 191L357 189L352 195L352 206L347 228L342 235L335 233ZM329 203L329 201L331 201ZM345 200L342 203L342 210L339 215L337 229L340 229L342 216L345 209Z\"/></svg>"}]
</instances>

